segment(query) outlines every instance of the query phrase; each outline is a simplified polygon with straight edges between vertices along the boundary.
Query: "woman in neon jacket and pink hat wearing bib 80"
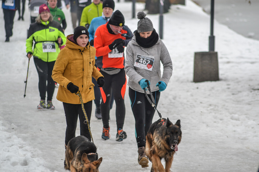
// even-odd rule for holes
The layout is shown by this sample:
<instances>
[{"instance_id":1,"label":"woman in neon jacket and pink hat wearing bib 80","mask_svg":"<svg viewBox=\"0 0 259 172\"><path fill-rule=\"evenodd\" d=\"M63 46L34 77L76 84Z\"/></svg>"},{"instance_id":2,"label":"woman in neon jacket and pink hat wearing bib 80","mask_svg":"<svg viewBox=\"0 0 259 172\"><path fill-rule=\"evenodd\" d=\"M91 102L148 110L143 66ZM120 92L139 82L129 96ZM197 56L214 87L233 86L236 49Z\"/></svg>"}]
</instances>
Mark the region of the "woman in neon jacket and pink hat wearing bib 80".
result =
<instances>
[{"instance_id":1,"label":"woman in neon jacket and pink hat wearing bib 80","mask_svg":"<svg viewBox=\"0 0 259 172\"><path fill-rule=\"evenodd\" d=\"M33 45L33 40L35 41ZM37 109L55 109L52 96L55 82L51 75L53 66L60 52L59 46L64 45L66 37L60 24L53 21L53 17L46 4L39 7L36 22L30 25L26 40L26 53L33 60L39 75L40 104ZM33 48L32 48L33 47ZM47 81L47 85L46 85ZM45 103L47 92L47 104Z\"/></svg>"}]
</instances>

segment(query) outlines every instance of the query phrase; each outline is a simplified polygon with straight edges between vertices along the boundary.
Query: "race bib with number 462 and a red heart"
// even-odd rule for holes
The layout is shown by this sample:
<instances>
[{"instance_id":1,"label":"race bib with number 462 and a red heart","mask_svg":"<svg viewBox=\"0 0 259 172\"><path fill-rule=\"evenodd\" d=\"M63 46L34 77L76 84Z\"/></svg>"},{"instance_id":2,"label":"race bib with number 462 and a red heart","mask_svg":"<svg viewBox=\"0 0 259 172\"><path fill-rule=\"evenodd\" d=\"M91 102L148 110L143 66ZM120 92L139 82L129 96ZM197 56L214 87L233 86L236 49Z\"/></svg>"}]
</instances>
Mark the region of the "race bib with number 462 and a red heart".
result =
<instances>
[{"instance_id":1,"label":"race bib with number 462 and a red heart","mask_svg":"<svg viewBox=\"0 0 259 172\"><path fill-rule=\"evenodd\" d=\"M153 56L144 56L137 54L134 66L152 71L154 61L155 57Z\"/></svg>"}]
</instances>

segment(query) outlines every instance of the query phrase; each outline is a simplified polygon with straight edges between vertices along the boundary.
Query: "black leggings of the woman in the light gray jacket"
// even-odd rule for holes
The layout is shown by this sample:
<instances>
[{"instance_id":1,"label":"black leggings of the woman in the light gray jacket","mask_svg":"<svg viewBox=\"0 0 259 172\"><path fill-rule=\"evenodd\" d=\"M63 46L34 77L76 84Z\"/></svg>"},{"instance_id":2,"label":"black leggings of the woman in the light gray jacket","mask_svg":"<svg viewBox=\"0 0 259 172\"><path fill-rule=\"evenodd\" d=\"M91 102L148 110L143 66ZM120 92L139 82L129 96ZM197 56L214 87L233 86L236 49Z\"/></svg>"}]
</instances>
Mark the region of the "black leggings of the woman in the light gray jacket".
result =
<instances>
[{"instance_id":1,"label":"black leggings of the woman in the light gray jacket","mask_svg":"<svg viewBox=\"0 0 259 172\"><path fill-rule=\"evenodd\" d=\"M158 104L160 98L160 92L152 92L155 99L156 105ZM146 146L146 135L150 125L152 124L152 119L155 113L155 108L151 106L144 93L134 91L129 88L129 96L131 101L131 110L135 118L135 136L138 148ZM148 94L150 100L150 94ZM159 116L157 116L159 117Z\"/></svg>"}]
</instances>

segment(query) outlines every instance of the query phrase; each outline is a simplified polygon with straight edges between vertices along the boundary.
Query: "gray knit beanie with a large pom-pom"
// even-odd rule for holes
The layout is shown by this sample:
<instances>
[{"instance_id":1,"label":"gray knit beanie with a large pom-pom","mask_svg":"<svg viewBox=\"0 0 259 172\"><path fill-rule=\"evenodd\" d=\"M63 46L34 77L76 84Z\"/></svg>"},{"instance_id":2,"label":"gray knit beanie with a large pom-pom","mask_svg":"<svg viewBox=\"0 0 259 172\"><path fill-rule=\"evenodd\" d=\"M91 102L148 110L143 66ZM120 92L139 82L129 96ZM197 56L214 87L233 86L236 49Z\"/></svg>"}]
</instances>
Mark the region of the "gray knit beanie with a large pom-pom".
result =
<instances>
[{"instance_id":1,"label":"gray knit beanie with a large pom-pom","mask_svg":"<svg viewBox=\"0 0 259 172\"><path fill-rule=\"evenodd\" d=\"M137 31L139 33L154 30L152 21L149 18L147 18L146 15L147 14L145 14L143 11L140 11L137 14L137 18L139 19Z\"/></svg>"}]
</instances>

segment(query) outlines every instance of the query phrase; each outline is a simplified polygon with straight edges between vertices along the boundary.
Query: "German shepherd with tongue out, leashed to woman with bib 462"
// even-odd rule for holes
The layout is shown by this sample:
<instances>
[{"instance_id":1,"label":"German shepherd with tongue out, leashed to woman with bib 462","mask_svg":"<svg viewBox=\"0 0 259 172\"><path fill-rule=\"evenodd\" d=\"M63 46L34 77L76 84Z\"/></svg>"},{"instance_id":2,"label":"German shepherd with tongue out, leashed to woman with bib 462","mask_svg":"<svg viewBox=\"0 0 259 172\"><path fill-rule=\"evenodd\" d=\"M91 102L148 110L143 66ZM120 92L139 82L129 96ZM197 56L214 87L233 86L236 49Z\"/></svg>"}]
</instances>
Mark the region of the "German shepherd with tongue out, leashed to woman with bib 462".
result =
<instances>
[{"instance_id":1,"label":"German shepherd with tongue out, leashed to woman with bib 462","mask_svg":"<svg viewBox=\"0 0 259 172\"><path fill-rule=\"evenodd\" d=\"M146 154L152 162L151 171L155 172L170 171L174 153L178 151L177 145L182 137L180 120L177 120L174 125L168 118L162 119L150 126L146 136ZM166 162L166 169L161 159Z\"/></svg>"}]
</instances>

